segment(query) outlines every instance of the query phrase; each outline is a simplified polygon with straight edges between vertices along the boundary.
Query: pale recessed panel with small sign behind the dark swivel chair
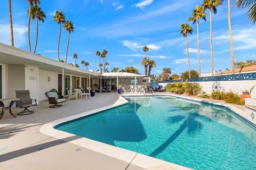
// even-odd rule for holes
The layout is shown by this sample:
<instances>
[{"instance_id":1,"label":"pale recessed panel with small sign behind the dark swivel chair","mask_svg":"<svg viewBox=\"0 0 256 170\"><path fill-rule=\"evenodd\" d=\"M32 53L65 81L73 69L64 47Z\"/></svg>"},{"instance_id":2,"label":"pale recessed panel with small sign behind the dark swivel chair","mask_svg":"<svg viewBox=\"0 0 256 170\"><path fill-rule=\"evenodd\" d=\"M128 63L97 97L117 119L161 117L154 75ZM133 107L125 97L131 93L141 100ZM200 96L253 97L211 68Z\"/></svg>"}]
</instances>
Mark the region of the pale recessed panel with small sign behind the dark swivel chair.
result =
<instances>
[{"instance_id":1,"label":"pale recessed panel with small sign behind the dark swivel chair","mask_svg":"<svg viewBox=\"0 0 256 170\"><path fill-rule=\"evenodd\" d=\"M26 90L30 92L31 99L38 99L38 90L37 90L37 74L36 73L27 73L26 76Z\"/></svg>"}]
</instances>

